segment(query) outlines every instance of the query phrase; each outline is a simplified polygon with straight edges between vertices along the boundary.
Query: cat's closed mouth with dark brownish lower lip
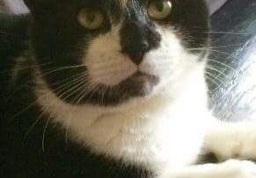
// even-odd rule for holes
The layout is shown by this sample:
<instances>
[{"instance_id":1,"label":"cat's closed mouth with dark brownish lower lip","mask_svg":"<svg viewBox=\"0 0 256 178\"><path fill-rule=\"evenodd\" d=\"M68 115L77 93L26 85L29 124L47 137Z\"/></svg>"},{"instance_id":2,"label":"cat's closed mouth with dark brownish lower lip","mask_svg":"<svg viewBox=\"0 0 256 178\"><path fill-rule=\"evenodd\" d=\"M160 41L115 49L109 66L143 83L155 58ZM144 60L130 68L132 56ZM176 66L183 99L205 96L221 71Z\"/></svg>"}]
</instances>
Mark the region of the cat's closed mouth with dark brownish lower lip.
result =
<instances>
[{"instance_id":1,"label":"cat's closed mouth with dark brownish lower lip","mask_svg":"<svg viewBox=\"0 0 256 178\"><path fill-rule=\"evenodd\" d=\"M148 96L159 82L155 75L136 72L119 84L119 88L129 96Z\"/></svg>"}]
</instances>

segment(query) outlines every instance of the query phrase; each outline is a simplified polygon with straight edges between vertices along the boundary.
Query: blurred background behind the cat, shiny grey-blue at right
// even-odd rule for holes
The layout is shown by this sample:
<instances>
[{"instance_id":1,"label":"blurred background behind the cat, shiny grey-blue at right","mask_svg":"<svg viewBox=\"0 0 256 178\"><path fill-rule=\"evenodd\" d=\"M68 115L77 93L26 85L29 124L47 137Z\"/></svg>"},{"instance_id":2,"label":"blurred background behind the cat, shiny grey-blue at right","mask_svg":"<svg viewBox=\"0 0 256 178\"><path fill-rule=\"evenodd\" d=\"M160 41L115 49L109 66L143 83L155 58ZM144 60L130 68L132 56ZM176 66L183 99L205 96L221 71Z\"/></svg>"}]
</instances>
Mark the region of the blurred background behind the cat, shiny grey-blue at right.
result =
<instances>
[{"instance_id":1,"label":"blurred background behind the cat, shiny grey-blue at right","mask_svg":"<svg viewBox=\"0 0 256 178\"><path fill-rule=\"evenodd\" d=\"M209 106L223 120L256 120L256 1L206 1L212 24ZM0 11L28 12L22 0L0 0Z\"/></svg>"}]
</instances>

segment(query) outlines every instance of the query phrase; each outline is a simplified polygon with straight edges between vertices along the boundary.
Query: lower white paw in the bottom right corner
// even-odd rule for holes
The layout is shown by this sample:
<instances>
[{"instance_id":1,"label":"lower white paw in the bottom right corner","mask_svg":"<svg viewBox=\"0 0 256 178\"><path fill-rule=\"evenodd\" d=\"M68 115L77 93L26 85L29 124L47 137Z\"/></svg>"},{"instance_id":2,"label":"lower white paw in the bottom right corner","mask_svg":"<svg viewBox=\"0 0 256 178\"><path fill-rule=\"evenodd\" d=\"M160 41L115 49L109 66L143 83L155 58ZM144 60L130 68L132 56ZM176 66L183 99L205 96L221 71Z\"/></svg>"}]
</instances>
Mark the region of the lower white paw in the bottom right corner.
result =
<instances>
[{"instance_id":1,"label":"lower white paw in the bottom right corner","mask_svg":"<svg viewBox=\"0 0 256 178\"><path fill-rule=\"evenodd\" d=\"M256 164L247 160L228 160L223 163L229 178L256 178Z\"/></svg>"}]
</instances>

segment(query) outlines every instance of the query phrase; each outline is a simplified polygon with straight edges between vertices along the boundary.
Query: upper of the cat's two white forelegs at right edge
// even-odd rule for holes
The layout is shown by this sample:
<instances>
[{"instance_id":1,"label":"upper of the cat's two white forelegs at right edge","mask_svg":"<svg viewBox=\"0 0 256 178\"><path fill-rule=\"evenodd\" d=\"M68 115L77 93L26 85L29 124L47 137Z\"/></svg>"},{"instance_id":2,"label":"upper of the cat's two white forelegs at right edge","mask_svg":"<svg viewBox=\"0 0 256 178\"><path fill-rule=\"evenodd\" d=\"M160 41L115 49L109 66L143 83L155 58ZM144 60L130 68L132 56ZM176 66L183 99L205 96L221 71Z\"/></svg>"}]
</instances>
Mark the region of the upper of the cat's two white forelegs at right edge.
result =
<instances>
[{"instance_id":1,"label":"upper of the cat's two white forelegs at right edge","mask_svg":"<svg viewBox=\"0 0 256 178\"><path fill-rule=\"evenodd\" d=\"M236 125L218 132L212 137L212 150L218 160L256 160L256 126Z\"/></svg>"}]
</instances>

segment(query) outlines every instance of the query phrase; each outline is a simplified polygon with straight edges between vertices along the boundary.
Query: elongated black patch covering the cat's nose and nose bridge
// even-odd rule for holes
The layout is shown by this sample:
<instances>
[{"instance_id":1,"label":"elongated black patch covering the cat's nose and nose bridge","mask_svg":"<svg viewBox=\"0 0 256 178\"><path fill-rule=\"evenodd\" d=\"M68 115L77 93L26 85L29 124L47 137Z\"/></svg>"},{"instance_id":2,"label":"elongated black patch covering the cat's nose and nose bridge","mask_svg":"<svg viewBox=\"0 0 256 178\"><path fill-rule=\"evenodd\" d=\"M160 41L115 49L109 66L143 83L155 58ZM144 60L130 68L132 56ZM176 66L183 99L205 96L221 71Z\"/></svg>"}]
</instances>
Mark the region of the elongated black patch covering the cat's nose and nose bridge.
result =
<instances>
[{"instance_id":1,"label":"elongated black patch covering the cat's nose and nose bridge","mask_svg":"<svg viewBox=\"0 0 256 178\"><path fill-rule=\"evenodd\" d=\"M156 48L161 40L155 26L142 13L130 11L120 29L121 52L128 55L136 65L140 65L145 54Z\"/></svg>"}]
</instances>

